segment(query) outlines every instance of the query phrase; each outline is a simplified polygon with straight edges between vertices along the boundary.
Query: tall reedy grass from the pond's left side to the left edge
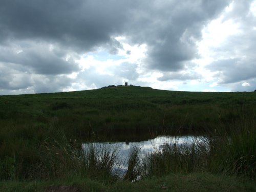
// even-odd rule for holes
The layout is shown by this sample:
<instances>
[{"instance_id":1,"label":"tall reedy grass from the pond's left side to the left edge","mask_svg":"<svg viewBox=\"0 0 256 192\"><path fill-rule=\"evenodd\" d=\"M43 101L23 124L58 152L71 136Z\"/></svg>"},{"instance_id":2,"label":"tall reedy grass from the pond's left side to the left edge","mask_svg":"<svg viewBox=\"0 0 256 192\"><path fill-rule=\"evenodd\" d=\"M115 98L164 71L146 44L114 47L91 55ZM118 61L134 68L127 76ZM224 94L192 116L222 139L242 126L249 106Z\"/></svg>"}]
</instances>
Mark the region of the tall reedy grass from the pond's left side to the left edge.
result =
<instances>
[{"instance_id":1,"label":"tall reedy grass from the pond's left side to the left edge","mask_svg":"<svg viewBox=\"0 0 256 192\"><path fill-rule=\"evenodd\" d=\"M44 140L10 140L1 143L1 180L55 180L91 178L112 183L121 174L113 172L118 163L118 148L95 146L82 148L67 139L56 119L45 130ZM32 132L33 133L33 132ZM119 175L118 175L119 174Z\"/></svg>"}]
</instances>

